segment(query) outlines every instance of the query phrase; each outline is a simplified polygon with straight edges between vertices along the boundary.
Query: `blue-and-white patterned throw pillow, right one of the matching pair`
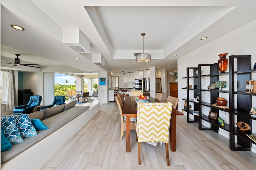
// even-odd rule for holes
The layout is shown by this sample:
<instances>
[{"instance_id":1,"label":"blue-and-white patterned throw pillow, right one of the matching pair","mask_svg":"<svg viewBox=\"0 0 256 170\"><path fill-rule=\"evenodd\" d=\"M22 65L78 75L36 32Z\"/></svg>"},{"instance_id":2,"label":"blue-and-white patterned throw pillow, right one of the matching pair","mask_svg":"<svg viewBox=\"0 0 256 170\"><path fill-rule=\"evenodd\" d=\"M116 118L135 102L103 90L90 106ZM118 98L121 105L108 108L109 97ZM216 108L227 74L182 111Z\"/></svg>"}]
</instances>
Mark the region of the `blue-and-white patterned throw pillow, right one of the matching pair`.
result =
<instances>
[{"instance_id":1,"label":"blue-and-white patterned throw pillow, right one of the matching pair","mask_svg":"<svg viewBox=\"0 0 256 170\"><path fill-rule=\"evenodd\" d=\"M32 125L28 115L6 115L6 117L14 117L22 138L37 135L36 128Z\"/></svg>"}]
</instances>

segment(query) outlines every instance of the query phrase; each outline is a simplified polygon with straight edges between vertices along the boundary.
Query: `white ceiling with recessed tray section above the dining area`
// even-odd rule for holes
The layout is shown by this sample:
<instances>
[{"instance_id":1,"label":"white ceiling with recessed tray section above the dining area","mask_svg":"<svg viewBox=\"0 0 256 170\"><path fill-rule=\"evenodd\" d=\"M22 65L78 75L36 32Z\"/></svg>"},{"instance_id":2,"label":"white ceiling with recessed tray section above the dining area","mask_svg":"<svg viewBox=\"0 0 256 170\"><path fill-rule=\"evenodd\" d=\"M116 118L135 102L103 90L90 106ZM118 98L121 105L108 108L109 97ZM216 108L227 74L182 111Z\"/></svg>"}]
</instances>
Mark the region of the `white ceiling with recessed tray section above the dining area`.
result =
<instances>
[{"instance_id":1,"label":"white ceiling with recessed tray section above the dining area","mask_svg":"<svg viewBox=\"0 0 256 170\"><path fill-rule=\"evenodd\" d=\"M58 72L63 66L74 72L130 72L150 66L174 70L177 58L256 20L255 0L0 0L0 3L1 59L14 62L14 54L18 53L22 63L40 64L41 71L46 72L53 68ZM25 30L13 29L11 24ZM90 54L79 54L66 47L64 29L80 29L90 41ZM146 33L144 51L152 55L148 63L137 63L134 57L134 53L142 53L142 32ZM200 40L205 36L208 39ZM216 51L216 55L219 53ZM105 66L92 63L92 54L101 54Z\"/></svg>"}]
</instances>

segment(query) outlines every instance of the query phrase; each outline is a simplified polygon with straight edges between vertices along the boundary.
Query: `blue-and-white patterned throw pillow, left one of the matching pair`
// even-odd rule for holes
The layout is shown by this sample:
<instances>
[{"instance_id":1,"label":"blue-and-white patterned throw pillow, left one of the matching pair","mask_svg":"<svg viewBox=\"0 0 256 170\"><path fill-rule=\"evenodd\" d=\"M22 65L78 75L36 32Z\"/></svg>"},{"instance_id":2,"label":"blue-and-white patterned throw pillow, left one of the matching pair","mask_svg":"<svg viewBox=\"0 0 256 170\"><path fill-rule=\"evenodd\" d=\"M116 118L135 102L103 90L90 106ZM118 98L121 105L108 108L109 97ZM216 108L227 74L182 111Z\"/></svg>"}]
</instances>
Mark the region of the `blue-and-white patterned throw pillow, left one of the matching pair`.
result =
<instances>
[{"instance_id":1,"label":"blue-and-white patterned throw pillow, left one of the matching pair","mask_svg":"<svg viewBox=\"0 0 256 170\"><path fill-rule=\"evenodd\" d=\"M1 116L1 129L11 144L24 142L14 117Z\"/></svg>"}]
</instances>

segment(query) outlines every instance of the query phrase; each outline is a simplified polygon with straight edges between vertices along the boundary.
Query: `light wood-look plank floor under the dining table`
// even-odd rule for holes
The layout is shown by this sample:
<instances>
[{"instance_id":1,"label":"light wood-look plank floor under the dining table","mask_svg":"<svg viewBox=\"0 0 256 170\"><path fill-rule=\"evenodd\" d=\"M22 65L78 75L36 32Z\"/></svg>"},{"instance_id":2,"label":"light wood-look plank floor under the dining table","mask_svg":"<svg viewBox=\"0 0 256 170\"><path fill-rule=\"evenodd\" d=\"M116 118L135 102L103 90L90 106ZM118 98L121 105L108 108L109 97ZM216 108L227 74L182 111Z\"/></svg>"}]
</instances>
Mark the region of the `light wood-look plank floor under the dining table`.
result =
<instances>
[{"instance_id":1,"label":"light wood-look plank floor under the dining table","mask_svg":"<svg viewBox=\"0 0 256 170\"><path fill-rule=\"evenodd\" d=\"M42 170L254 170L256 154L229 150L229 141L213 131L199 131L198 123L187 123L177 116L176 152L165 146L142 143L141 165L138 144L131 132L131 152L126 152L125 132L120 140L120 113L116 102L101 111L82 130L56 152Z\"/></svg>"}]
</instances>

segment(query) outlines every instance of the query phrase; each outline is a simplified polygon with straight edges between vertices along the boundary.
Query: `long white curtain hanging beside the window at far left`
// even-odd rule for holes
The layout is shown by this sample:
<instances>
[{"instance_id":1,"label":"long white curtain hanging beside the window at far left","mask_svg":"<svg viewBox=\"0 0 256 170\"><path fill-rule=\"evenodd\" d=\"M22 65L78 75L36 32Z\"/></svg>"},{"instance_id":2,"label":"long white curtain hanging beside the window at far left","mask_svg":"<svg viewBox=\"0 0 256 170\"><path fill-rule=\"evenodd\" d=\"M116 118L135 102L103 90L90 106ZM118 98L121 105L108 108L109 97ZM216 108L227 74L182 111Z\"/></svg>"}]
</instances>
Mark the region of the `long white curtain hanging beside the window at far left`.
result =
<instances>
[{"instance_id":1,"label":"long white curtain hanging beside the window at far left","mask_svg":"<svg viewBox=\"0 0 256 170\"><path fill-rule=\"evenodd\" d=\"M7 72L6 76L6 91L7 91L7 100L6 100L6 111L12 111L14 109L14 72L10 70Z\"/></svg>"}]
</instances>

